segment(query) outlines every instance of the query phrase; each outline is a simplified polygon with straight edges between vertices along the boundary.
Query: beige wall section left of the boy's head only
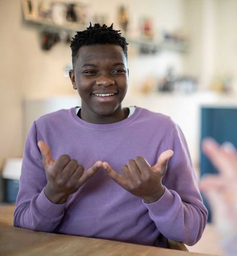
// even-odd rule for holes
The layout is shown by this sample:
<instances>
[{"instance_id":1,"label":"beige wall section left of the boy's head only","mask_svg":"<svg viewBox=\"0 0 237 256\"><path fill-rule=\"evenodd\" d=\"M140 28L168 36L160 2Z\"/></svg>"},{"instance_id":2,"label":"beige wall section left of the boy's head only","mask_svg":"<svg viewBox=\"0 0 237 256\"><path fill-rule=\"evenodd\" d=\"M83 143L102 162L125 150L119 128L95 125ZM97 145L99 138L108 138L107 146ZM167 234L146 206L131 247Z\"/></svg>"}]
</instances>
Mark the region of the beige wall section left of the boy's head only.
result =
<instances>
[{"instance_id":1,"label":"beige wall section left of the boy's head only","mask_svg":"<svg viewBox=\"0 0 237 256\"><path fill-rule=\"evenodd\" d=\"M43 51L35 26L23 23L19 0L0 2L0 164L5 157L22 156L22 100L76 93L62 75L71 61L68 44Z\"/></svg>"}]
</instances>

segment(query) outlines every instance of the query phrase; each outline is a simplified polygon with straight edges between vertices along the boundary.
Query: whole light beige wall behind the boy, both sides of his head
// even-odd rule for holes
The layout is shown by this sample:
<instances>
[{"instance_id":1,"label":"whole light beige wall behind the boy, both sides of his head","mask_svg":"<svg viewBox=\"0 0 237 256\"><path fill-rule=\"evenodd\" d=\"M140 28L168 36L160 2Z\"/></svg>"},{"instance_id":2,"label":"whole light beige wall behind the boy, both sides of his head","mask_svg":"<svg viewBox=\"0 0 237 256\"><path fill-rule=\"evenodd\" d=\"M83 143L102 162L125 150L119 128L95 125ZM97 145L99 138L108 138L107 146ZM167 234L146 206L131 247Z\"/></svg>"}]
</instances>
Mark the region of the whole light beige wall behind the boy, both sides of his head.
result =
<instances>
[{"instance_id":1,"label":"whole light beige wall behind the boy, both sides of his head","mask_svg":"<svg viewBox=\"0 0 237 256\"><path fill-rule=\"evenodd\" d=\"M168 66L177 73L200 77L205 82L205 65L214 75L231 73L236 77L237 58L237 2L235 0L109 0L90 1L99 14L107 16L107 23L117 21L117 7L127 6L131 28L139 19L153 19L155 33L182 28L190 38L190 52L161 52L155 56L129 56L129 96L141 86L144 78L161 77ZM205 14L208 4L212 15ZM210 8L209 8L210 9ZM208 18L209 17L209 18ZM215 29L211 36L207 27ZM137 27L138 28L138 27ZM206 30L204 30L206 28ZM206 32L205 32L206 31ZM206 34L205 34L206 33ZM205 36L206 35L206 36ZM210 44L211 38L211 44ZM65 65L71 62L68 44L60 42L50 51L41 50L37 26L23 22L19 0L0 0L0 164L5 157L22 156L22 100L25 97L48 97L73 94L69 78L63 77ZM130 47L133 47L130 45ZM213 54L208 51L214 49ZM207 60L211 63L211 67ZM206 77L210 77L210 72Z\"/></svg>"}]
</instances>

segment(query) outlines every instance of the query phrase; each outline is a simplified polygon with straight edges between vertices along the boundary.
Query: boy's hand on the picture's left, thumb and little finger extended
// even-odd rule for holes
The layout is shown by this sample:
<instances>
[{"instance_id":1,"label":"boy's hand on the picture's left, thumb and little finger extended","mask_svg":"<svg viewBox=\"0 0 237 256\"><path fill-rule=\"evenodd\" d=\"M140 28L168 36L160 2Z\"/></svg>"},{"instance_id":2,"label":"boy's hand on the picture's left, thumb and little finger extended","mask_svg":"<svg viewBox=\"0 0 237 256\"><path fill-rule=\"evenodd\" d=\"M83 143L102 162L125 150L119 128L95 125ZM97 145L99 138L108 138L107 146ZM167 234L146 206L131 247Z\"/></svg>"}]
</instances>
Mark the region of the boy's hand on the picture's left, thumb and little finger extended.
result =
<instances>
[{"instance_id":1,"label":"boy's hand on the picture's left, thumb and little finger extended","mask_svg":"<svg viewBox=\"0 0 237 256\"><path fill-rule=\"evenodd\" d=\"M68 155L60 156L56 161L52 159L49 146L43 141L38 142L42 155L42 164L45 169L48 183L45 186L46 197L55 204L66 203L68 196L75 193L96 171L102 166L97 161L89 170Z\"/></svg>"}]
</instances>

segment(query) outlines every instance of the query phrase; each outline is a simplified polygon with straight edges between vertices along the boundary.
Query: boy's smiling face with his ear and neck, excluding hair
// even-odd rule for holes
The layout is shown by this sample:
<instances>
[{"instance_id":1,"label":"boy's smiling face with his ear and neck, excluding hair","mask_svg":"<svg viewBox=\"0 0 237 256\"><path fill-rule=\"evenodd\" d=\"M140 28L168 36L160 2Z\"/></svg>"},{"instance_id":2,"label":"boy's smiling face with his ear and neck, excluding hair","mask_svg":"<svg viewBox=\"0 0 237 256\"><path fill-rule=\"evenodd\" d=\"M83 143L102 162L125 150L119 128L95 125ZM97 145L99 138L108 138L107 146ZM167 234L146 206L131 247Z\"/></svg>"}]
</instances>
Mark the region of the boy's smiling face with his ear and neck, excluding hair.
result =
<instances>
[{"instance_id":1,"label":"boy's smiling face with his ear and neck, excluding hair","mask_svg":"<svg viewBox=\"0 0 237 256\"><path fill-rule=\"evenodd\" d=\"M81 116L91 123L112 117L119 121L128 86L127 61L119 45L88 45L79 49L69 75L81 97ZM100 122L101 123L101 122Z\"/></svg>"}]
</instances>

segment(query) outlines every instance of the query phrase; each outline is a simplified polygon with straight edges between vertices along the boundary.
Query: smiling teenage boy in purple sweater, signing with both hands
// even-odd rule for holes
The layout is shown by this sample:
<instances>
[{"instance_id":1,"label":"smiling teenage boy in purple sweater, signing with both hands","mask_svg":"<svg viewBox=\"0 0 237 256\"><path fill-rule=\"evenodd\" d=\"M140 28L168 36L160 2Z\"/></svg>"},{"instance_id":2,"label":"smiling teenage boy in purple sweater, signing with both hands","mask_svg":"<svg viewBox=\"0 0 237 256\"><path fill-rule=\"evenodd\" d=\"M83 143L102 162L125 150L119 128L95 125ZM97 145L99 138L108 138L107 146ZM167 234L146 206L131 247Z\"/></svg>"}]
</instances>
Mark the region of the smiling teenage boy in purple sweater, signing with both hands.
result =
<instances>
[{"instance_id":1,"label":"smiling teenage boy in purple sweater, signing with both hands","mask_svg":"<svg viewBox=\"0 0 237 256\"><path fill-rule=\"evenodd\" d=\"M167 116L122 107L125 38L95 24L77 32L71 49L81 107L33 122L14 225L162 247L166 238L196 243L207 211L183 133Z\"/></svg>"}]
</instances>

